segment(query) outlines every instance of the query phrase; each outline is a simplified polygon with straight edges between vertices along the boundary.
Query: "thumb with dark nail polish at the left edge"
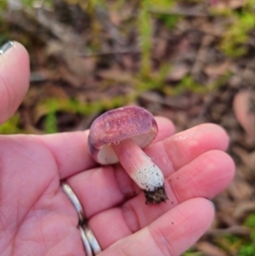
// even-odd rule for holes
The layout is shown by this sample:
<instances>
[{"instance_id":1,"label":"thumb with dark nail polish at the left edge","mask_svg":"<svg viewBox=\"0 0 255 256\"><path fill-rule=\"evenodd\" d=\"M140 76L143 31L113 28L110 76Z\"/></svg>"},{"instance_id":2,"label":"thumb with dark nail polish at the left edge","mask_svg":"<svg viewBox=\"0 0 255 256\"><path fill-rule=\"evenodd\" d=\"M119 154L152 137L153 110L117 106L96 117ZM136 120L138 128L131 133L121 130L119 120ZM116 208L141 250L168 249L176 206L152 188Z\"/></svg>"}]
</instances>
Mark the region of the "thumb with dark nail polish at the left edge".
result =
<instances>
[{"instance_id":1,"label":"thumb with dark nail polish at the left edge","mask_svg":"<svg viewBox=\"0 0 255 256\"><path fill-rule=\"evenodd\" d=\"M29 56L20 43L0 54L0 124L17 110L29 87Z\"/></svg>"}]
</instances>

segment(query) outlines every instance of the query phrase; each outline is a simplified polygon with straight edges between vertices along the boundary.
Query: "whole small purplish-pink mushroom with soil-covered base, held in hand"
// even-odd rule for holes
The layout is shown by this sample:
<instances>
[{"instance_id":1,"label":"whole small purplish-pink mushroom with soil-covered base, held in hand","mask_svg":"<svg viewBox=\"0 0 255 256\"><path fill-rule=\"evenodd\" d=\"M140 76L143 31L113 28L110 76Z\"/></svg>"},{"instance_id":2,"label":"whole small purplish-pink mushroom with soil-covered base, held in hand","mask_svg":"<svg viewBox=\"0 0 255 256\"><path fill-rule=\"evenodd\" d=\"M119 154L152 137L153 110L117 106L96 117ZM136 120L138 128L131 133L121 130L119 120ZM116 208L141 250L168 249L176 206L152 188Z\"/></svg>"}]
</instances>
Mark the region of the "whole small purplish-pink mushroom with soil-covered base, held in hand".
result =
<instances>
[{"instance_id":1,"label":"whole small purplish-pink mushroom with soil-covered base, held in hand","mask_svg":"<svg viewBox=\"0 0 255 256\"><path fill-rule=\"evenodd\" d=\"M88 135L88 148L96 162L121 162L127 174L144 191L145 203L166 202L164 176L142 150L156 137L155 118L139 106L129 105L96 118Z\"/></svg>"}]
</instances>

